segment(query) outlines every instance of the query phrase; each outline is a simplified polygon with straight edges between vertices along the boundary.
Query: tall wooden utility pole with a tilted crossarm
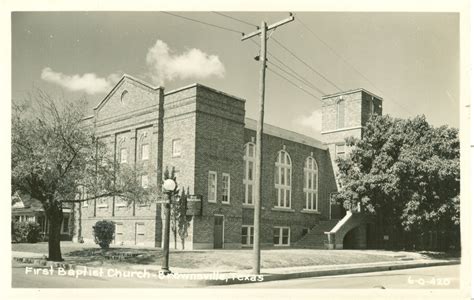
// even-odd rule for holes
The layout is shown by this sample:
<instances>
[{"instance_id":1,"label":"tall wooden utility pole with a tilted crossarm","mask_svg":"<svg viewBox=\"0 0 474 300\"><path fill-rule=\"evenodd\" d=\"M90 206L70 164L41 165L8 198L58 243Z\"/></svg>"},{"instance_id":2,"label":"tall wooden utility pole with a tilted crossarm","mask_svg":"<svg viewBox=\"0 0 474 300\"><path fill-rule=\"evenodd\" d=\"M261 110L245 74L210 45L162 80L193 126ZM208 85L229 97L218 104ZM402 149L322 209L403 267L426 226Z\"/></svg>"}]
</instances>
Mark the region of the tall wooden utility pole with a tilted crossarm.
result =
<instances>
[{"instance_id":1,"label":"tall wooden utility pole with a tilted crossarm","mask_svg":"<svg viewBox=\"0 0 474 300\"><path fill-rule=\"evenodd\" d=\"M253 274L260 274L260 220L262 210L262 136L263 136L263 119L265 112L265 70L267 68L267 32L276 29L286 23L293 21L295 17L290 13L290 17L273 23L267 27L267 23L262 21L262 26L257 31L242 36L242 41L260 35L260 99L259 114L257 121L256 136L256 155L255 155L255 198L254 198L254 219L253 219Z\"/></svg>"}]
</instances>

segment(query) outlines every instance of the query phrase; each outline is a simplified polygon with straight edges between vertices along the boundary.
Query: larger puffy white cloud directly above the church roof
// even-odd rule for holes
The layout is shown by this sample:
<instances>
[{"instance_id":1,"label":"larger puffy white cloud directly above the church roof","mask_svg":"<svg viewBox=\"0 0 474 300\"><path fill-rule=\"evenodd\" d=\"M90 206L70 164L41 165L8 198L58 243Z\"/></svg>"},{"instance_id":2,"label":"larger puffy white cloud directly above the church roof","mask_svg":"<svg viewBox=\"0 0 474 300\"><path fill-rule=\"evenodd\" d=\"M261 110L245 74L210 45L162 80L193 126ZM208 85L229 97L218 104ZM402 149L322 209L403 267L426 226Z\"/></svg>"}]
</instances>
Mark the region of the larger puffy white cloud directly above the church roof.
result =
<instances>
[{"instance_id":1,"label":"larger puffy white cloud directly above the church roof","mask_svg":"<svg viewBox=\"0 0 474 300\"><path fill-rule=\"evenodd\" d=\"M209 55L199 49L189 49L182 54L173 54L168 45L157 40L148 49L146 63L150 68L150 77L156 84L164 84L175 78L223 77L225 68L217 55Z\"/></svg>"}]
</instances>

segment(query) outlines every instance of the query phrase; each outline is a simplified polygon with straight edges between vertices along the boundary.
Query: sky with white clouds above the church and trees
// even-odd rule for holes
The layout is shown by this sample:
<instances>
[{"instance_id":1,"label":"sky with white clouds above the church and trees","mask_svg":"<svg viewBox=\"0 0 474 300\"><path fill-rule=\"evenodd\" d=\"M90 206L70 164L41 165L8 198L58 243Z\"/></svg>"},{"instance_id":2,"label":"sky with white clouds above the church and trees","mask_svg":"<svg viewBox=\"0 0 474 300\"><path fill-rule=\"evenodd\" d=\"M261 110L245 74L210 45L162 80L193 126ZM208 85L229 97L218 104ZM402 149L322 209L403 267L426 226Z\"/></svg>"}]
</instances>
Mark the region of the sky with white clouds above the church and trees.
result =
<instances>
[{"instance_id":1,"label":"sky with white clouds above the church and trees","mask_svg":"<svg viewBox=\"0 0 474 300\"><path fill-rule=\"evenodd\" d=\"M293 13L269 33L266 123L319 139L321 96L364 88L384 114L459 127L457 13ZM165 92L198 82L244 98L256 119L260 41L241 32L288 13L173 14L225 29L162 12L14 12L12 98L39 87L93 107L126 73Z\"/></svg>"}]
</instances>

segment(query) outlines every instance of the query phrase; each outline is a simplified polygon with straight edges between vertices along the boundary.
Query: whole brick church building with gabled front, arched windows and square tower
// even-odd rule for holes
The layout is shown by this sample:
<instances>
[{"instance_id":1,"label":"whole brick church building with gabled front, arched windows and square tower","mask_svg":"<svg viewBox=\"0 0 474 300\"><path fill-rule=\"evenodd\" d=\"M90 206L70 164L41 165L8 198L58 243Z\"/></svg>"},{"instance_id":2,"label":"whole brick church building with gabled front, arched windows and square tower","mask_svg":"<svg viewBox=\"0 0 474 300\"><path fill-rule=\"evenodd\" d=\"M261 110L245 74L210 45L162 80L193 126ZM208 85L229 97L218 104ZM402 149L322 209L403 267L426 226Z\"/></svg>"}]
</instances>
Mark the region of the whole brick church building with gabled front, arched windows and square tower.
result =
<instances>
[{"instance_id":1,"label":"whole brick church building with gabled front, arched windows and square tower","mask_svg":"<svg viewBox=\"0 0 474 300\"><path fill-rule=\"evenodd\" d=\"M359 114L360 131L365 118L360 99L365 94L356 90L337 95L359 109L325 100L336 96L323 98L323 121L351 120ZM256 122L245 118L245 100L200 84L165 93L161 87L124 75L86 121L114 149L118 162L143 170L143 186L152 181L161 185L165 168L176 169L179 187L195 196L189 203L187 249L253 244ZM327 145L264 126L263 246L327 247L328 232L340 225L341 210L330 203L337 191L331 151L341 142L340 134L323 128ZM159 203L127 204L106 198L84 202L76 211L75 240L92 241L92 226L108 219L116 224L115 244L161 245ZM333 244L335 240L333 236Z\"/></svg>"}]
</instances>

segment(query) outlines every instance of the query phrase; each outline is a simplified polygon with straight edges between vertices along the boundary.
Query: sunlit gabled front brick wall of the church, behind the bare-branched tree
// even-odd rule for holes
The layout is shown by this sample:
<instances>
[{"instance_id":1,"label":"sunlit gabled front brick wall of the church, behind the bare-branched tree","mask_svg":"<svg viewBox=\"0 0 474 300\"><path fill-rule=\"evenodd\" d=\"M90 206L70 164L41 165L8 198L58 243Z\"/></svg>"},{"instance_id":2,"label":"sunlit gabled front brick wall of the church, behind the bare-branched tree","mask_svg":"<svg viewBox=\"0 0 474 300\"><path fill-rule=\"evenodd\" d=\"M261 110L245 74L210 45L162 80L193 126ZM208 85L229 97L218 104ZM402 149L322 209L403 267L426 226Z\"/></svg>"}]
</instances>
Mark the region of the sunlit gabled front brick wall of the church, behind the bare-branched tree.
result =
<instances>
[{"instance_id":1,"label":"sunlit gabled front brick wall of the church, behind the bare-branched tree","mask_svg":"<svg viewBox=\"0 0 474 300\"><path fill-rule=\"evenodd\" d=\"M120 161L126 149L126 164L136 166L150 183L161 182L163 90L152 89L133 78L124 77L98 105L94 115L96 136ZM148 159L142 146L149 145ZM92 226L99 220L122 224L123 244L155 246L161 241L160 207L156 204L127 203L115 197L89 201L81 207L82 236L93 241ZM156 222L160 220L159 222ZM144 237L137 240L136 227L143 226ZM142 227L140 227L141 230Z\"/></svg>"}]
</instances>

